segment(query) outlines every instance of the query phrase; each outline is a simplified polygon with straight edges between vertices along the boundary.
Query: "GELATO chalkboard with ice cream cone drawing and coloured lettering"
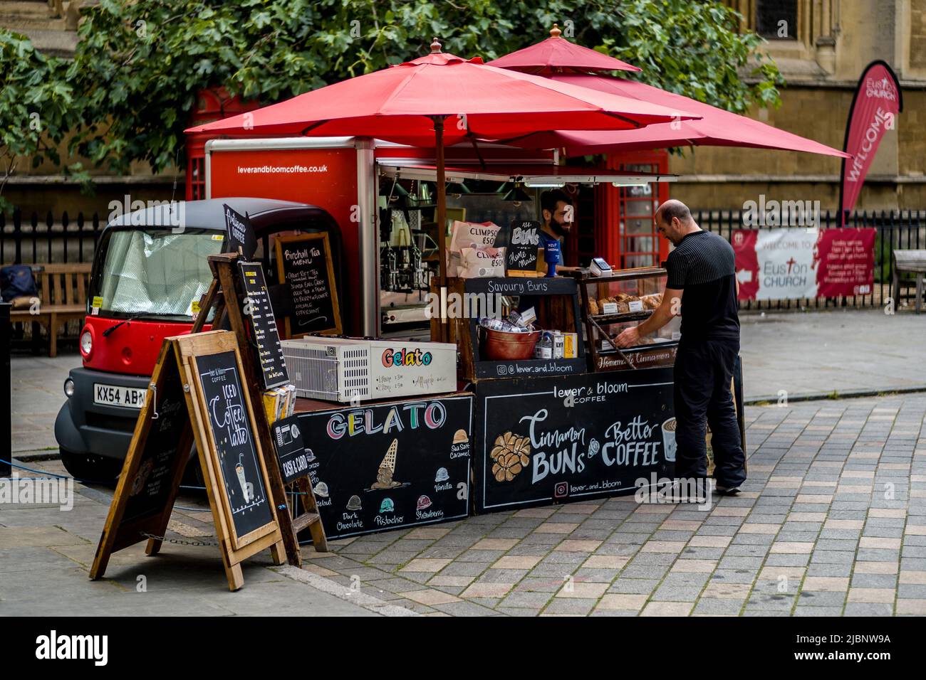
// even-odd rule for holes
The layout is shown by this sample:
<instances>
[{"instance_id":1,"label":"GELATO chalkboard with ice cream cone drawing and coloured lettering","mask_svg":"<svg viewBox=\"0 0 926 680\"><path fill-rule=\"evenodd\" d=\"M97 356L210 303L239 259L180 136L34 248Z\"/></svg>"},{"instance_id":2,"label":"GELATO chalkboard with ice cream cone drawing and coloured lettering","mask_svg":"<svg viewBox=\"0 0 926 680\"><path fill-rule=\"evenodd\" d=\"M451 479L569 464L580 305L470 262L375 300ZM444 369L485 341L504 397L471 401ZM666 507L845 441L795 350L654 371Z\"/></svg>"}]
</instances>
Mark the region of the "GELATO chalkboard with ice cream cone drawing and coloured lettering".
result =
<instances>
[{"instance_id":1,"label":"GELATO chalkboard with ice cream cone drawing and coloured lettering","mask_svg":"<svg viewBox=\"0 0 926 680\"><path fill-rule=\"evenodd\" d=\"M297 417L328 538L469 514L472 395Z\"/></svg>"}]
</instances>

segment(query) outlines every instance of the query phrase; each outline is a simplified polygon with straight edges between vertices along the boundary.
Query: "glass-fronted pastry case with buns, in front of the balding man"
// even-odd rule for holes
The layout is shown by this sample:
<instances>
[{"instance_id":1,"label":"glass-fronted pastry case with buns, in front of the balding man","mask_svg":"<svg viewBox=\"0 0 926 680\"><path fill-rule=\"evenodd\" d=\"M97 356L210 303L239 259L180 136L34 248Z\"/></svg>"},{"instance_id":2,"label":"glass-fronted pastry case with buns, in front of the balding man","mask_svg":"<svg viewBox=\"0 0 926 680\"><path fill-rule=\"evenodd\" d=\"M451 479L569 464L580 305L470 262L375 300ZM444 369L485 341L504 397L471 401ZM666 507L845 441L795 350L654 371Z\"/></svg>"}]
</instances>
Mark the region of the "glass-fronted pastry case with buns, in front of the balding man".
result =
<instances>
[{"instance_id":1,"label":"glass-fronted pastry case with buns, in front of the balding man","mask_svg":"<svg viewBox=\"0 0 926 680\"><path fill-rule=\"evenodd\" d=\"M662 302L667 276L664 268L647 266L580 278L582 318L593 371L674 364L681 337L679 316L644 336L639 345L619 349L614 342L624 328L637 326L653 314Z\"/></svg>"}]
</instances>

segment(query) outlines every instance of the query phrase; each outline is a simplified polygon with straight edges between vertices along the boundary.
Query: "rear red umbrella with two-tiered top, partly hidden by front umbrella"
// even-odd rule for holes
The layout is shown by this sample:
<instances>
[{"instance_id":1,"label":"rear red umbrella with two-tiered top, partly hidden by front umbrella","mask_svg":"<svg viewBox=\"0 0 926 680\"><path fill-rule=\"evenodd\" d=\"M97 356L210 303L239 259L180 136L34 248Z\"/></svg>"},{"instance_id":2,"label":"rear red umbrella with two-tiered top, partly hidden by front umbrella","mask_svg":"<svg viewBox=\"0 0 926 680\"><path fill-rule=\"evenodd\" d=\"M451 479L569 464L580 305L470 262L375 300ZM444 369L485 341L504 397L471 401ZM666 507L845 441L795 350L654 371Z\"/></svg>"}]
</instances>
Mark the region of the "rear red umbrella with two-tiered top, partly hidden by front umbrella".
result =
<instances>
[{"instance_id":1,"label":"rear red umbrella with two-tiered top, partly hidden by front umbrella","mask_svg":"<svg viewBox=\"0 0 926 680\"><path fill-rule=\"evenodd\" d=\"M702 104L681 94L669 93L657 87L646 85L637 80L625 80L607 75L598 75L582 71L614 70L617 67L589 66L594 59L601 56L594 50L569 43L558 37L558 31L550 31L553 37L527 47L511 55L502 56L489 62L490 66L517 68L518 70L542 73L550 80L569 86L581 86L597 92L619 94L620 96L640 101L651 102L697 114L698 120L677 119L671 123L647 126L642 130L610 131L569 131L552 130L507 142L525 148L566 148L567 155L606 154L613 151L633 149L662 149L672 146L746 146L760 149L779 149L782 151L801 151L808 154L834 155L847 157L837 149L808 140L799 135L778 130L770 125L752 118L739 116L724 111L716 106ZM569 49L560 47L556 54L561 58L553 62L549 43L567 43ZM509 57L517 59L509 60ZM623 62L619 62L623 64ZM626 69L625 69L626 70Z\"/></svg>"}]
</instances>

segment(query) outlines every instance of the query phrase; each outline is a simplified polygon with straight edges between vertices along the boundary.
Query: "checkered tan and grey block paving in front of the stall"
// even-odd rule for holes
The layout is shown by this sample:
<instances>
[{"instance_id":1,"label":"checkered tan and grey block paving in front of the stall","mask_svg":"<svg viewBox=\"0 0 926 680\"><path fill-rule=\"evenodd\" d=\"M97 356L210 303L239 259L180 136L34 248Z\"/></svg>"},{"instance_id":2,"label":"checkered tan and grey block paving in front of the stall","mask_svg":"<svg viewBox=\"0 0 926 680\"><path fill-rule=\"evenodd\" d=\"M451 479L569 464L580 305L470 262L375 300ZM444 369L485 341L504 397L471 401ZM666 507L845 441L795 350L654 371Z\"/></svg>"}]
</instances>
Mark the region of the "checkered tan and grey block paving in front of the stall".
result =
<instances>
[{"instance_id":1,"label":"checkered tan and grey block paving in front of the stall","mask_svg":"<svg viewBox=\"0 0 926 680\"><path fill-rule=\"evenodd\" d=\"M750 406L744 493L336 541L307 569L452 615L926 614L926 396Z\"/></svg>"}]
</instances>

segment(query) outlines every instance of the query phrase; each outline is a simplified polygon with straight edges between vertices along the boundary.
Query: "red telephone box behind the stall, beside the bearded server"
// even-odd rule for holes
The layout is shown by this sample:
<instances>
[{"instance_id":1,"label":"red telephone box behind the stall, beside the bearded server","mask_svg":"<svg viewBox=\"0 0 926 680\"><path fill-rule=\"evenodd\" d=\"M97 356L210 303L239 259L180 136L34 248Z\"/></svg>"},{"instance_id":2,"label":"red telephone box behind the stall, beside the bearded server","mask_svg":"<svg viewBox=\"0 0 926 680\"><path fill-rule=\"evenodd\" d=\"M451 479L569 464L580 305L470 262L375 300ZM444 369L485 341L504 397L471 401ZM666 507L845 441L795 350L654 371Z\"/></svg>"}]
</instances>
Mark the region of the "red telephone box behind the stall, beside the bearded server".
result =
<instances>
[{"instance_id":1,"label":"red telephone box behind the stall, beside the bearded server","mask_svg":"<svg viewBox=\"0 0 926 680\"><path fill-rule=\"evenodd\" d=\"M631 151L608 155L604 167L621 172L668 174L669 152ZM594 236L597 254L615 268L658 266L669 256L669 241L659 236L653 216L669 199L669 183L637 187L600 184L595 192Z\"/></svg>"}]
</instances>

